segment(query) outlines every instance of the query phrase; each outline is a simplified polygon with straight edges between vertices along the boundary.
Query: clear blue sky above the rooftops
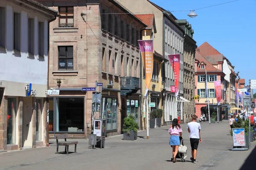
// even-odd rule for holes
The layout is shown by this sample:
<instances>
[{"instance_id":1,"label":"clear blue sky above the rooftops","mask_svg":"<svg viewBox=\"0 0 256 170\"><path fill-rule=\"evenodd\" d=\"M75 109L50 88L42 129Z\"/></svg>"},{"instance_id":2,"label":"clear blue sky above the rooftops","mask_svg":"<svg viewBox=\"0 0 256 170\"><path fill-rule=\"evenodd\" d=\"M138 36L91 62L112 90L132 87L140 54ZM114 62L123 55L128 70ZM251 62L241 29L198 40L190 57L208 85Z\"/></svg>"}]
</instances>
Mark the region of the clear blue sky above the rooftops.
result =
<instances>
[{"instance_id":1,"label":"clear blue sky above the rooftops","mask_svg":"<svg viewBox=\"0 0 256 170\"><path fill-rule=\"evenodd\" d=\"M232 0L151 0L169 11L191 10ZM190 18L188 11L172 12L177 19L186 19L194 29L194 40L200 46L208 42L227 57L239 76L256 79L256 0L239 0L220 6L199 9ZM254 52L253 52L254 51Z\"/></svg>"}]
</instances>

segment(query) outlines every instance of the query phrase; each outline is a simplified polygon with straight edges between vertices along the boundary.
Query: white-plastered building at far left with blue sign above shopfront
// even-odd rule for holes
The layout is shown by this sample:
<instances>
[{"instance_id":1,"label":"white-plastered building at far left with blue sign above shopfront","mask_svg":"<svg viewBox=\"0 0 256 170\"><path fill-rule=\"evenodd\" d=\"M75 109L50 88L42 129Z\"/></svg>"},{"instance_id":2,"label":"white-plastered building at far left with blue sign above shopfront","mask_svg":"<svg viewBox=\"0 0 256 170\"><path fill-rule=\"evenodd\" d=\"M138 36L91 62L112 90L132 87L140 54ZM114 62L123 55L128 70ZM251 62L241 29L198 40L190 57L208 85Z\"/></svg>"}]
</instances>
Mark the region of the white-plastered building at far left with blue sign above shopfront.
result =
<instances>
[{"instance_id":1,"label":"white-plastered building at far left with blue sign above shopfront","mask_svg":"<svg viewBox=\"0 0 256 170\"><path fill-rule=\"evenodd\" d=\"M0 3L0 152L45 146L48 22L30 0Z\"/></svg>"}]
</instances>

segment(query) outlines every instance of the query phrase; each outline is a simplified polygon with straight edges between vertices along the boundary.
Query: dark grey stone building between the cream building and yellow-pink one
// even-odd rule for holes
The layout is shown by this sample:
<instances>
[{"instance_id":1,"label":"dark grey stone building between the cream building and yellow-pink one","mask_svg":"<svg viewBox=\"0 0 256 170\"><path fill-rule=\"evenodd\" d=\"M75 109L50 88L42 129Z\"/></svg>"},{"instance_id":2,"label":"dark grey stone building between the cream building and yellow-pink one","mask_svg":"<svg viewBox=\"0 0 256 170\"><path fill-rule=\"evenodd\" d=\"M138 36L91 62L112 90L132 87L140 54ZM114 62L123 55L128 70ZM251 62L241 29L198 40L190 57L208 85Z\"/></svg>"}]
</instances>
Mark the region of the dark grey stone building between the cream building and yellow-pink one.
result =
<instances>
[{"instance_id":1,"label":"dark grey stone building between the cream building and yellow-pink one","mask_svg":"<svg viewBox=\"0 0 256 170\"><path fill-rule=\"evenodd\" d=\"M197 48L193 40L194 30L186 20L176 20L180 27L185 31L184 34L184 98L189 102L183 105L183 122L190 122L191 116L195 114L195 49Z\"/></svg>"}]
</instances>

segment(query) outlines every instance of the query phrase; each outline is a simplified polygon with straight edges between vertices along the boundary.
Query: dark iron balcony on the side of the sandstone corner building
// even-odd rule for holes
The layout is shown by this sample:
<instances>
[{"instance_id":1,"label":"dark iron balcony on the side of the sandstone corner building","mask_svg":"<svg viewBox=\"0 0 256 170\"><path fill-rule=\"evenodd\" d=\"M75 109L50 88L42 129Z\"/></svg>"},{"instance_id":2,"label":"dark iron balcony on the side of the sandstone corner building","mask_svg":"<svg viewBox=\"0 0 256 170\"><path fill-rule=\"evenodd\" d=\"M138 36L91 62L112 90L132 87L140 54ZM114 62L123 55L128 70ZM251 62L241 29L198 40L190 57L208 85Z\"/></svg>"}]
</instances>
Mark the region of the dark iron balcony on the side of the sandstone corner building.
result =
<instances>
[{"instance_id":1,"label":"dark iron balcony on the side of the sandstone corner building","mask_svg":"<svg viewBox=\"0 0 256 170\"><path fill-rule=\"evenodd\" d=\"M140 90L140 78L121 77L121 96L130 96Z\"/></svg>"}]
</instances>

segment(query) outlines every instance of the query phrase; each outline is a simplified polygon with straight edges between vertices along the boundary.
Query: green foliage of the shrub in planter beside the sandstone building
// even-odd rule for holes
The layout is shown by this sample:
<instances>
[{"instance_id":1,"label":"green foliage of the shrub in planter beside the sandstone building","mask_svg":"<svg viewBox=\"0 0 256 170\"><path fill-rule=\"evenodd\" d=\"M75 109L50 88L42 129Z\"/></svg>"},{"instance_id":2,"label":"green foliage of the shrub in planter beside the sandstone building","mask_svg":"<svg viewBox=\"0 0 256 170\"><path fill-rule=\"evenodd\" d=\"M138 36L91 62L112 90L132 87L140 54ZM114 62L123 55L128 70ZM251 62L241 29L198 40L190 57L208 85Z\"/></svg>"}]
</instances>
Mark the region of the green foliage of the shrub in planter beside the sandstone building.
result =
<instances>
[{"instance_id":1,"label":"green foliage of the shrub in planter beside the sandstone building","mask_svg":"<svg viewBox=\"0 0 256 170\"><path fill-rule=\"evenodd\" d=\"M135 117L134 116L128 116L124 119L124 124L123 124L123 128L122 128L122 132L123 133L127 133L128 135L130 135L130 131L133 130L134 132L138 131L138 124L135 123Z\"/></svg>"}]
</instances>

